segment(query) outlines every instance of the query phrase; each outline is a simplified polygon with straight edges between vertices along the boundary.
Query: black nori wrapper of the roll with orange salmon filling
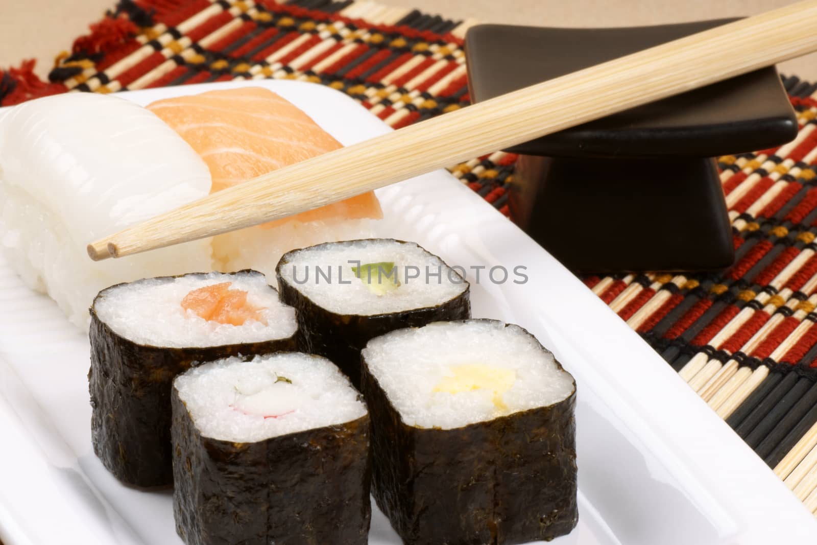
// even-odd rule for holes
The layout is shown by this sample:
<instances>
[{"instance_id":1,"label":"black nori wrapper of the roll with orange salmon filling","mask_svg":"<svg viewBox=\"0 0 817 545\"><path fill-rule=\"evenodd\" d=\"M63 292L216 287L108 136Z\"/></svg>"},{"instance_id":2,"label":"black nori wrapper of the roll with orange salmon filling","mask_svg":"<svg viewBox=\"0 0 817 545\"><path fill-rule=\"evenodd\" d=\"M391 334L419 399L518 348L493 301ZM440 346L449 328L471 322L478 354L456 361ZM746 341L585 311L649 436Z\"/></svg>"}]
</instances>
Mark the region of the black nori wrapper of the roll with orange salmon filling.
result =
<instances>
[{"instance_id":1,"label":"black nori wrapper of the roll with orange salmon filling","mask_svg":"<svg viewBox=\"0 0 817 545\"><path fill-rule=\"evenodd\" d=\"M247 273L261 274L248 270L234 274ZM121 285L106 288L96 297ZM118 480L142 488L173 484L170 392L177 374L205 361L300 348L297 332L283 339L233 345L141 345L114 333L96 315L94 306L90 312L88 390L94 453Z\"/></svg>"}]
</instances>

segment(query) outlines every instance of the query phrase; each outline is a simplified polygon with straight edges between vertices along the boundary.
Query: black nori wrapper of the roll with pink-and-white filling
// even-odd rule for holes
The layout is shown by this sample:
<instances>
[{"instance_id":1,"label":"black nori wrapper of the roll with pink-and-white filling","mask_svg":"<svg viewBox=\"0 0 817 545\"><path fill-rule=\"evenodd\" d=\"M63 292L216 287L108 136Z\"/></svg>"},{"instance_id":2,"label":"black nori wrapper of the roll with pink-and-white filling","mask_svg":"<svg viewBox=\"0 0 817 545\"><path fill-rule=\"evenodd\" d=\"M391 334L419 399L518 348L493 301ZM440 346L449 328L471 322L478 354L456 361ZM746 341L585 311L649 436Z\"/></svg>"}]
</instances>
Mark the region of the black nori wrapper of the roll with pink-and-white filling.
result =
<instances>
[{"instance_id":1,"label":"black nori wrapper of the roll with pink-and-white filling","mask_svg":"<svg viewBox=\"0 0 817 545\"><path fill-rule=\"evenodd\" d=\"M172 393L173 515L187 545L365 545L368 414L254 443L204 437Z\"/></svg>"}]
</instances>

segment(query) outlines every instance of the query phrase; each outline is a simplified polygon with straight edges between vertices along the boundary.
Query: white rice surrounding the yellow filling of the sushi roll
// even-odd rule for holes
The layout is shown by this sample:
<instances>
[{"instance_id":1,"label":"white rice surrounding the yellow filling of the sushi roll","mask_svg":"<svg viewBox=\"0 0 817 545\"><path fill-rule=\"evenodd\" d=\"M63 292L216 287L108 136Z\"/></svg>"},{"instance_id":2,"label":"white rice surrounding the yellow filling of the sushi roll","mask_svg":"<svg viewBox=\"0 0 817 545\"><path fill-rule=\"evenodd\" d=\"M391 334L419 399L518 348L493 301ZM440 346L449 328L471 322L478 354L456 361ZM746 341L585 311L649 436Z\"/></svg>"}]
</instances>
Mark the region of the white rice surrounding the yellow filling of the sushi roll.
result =
<instances>
[{"instance_id":1,"label":"white rice surrounding the yellow filling of the sushi roll","mask_svg":"<svg viewBox=\"0 0 817 545\"><path fill-rule=\"evenodd\" d=\"M575 390L573 377L559 369L534 337L519 326L493 320L399 329L369 341L362 355L408 426L444 430L467 426L547 407ZM512 386L500 392L506 407L498 408L490 388L435 391L452 376L452 368L462 365L511 370Z\"/></svg>"}]
</instances>

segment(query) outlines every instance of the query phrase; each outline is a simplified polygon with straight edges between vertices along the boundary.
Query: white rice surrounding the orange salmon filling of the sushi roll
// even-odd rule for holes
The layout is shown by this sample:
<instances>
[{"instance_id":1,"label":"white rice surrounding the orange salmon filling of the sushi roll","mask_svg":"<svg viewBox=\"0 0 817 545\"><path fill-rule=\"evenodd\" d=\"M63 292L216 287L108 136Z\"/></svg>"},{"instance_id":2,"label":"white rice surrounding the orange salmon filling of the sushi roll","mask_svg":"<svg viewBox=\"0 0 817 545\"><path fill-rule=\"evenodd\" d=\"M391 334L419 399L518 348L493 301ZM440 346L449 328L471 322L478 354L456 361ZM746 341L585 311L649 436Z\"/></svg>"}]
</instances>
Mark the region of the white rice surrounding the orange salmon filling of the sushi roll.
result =
<instances>
[{"instance_id":1,"label":"white rice surrounding the orange salmon filling of the sushi roll","mask_svg":"<svg viewBox=\"0 0 817 545\"><path fill-rule=\"evenodd\" d=\"M248 292L247 302L263 307L266 324L220 324L181 306L194 289L230 282L230 289ZM121 337L150 346L203 347L261 342L291 337L297 331L295 309L284 305L264 275L239 273L185 275L176 279L145 279L106 289L94 303L99 319Z\"/></svg>"}]
</instances>

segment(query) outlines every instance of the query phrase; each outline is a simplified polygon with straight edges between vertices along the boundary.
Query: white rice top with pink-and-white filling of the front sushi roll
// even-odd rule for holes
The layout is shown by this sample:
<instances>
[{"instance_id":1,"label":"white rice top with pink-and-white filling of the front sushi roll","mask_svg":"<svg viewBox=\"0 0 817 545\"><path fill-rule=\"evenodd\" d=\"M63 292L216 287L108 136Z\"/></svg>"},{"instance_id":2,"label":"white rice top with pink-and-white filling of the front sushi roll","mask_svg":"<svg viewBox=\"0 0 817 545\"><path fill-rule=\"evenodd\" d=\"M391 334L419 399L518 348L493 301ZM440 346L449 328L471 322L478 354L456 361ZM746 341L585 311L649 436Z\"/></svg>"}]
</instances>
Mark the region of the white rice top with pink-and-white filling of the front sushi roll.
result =
<instances>
[{"instance_id":1,"label":"white rice top with pink-and-white filling of the front sushi roll","mask_svg":"<svg viewBox=\"0 0 817 545\"><path fill-rule=\"evenodd\" d=\"M279 352L249 362L218 360L179 375L173 385L202 436L236 443L338 425L366 414L349 380L317 355Z\"/></svg>"}]
</instances>

